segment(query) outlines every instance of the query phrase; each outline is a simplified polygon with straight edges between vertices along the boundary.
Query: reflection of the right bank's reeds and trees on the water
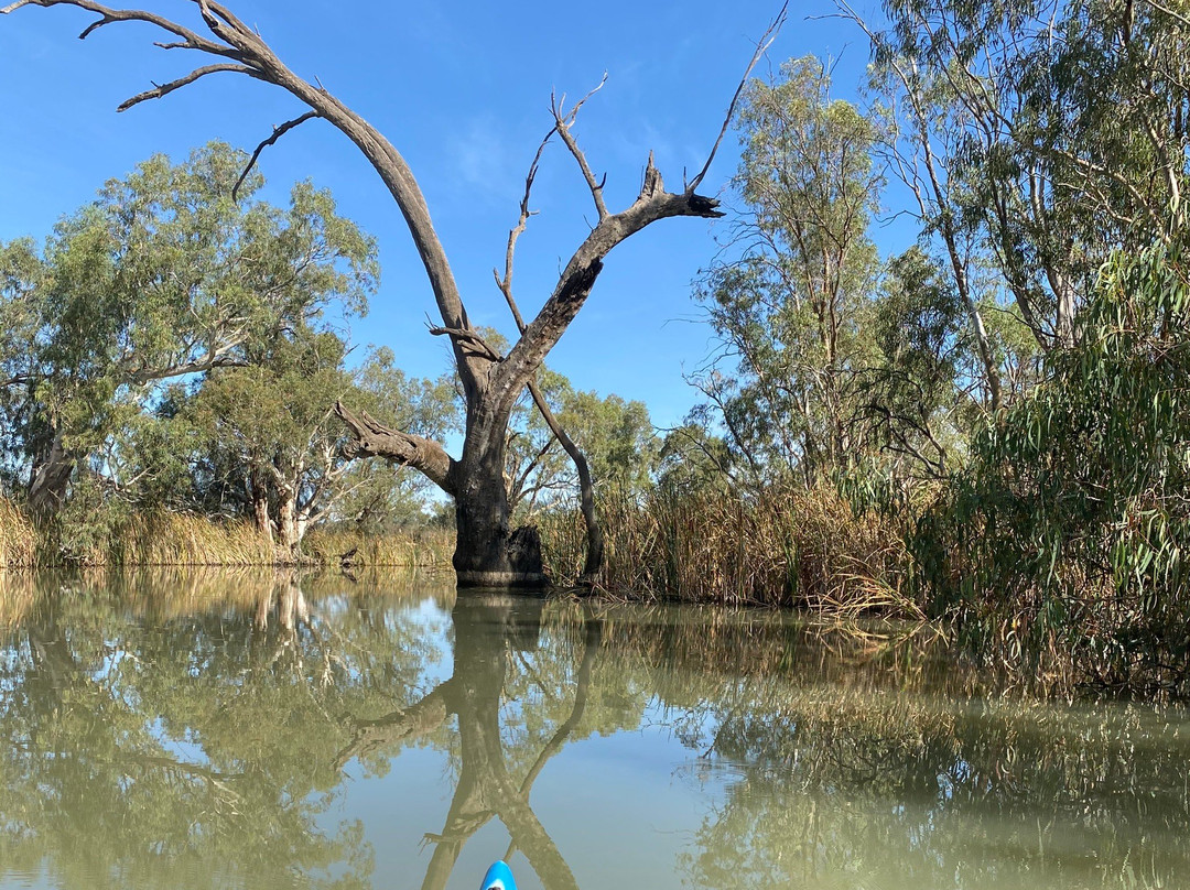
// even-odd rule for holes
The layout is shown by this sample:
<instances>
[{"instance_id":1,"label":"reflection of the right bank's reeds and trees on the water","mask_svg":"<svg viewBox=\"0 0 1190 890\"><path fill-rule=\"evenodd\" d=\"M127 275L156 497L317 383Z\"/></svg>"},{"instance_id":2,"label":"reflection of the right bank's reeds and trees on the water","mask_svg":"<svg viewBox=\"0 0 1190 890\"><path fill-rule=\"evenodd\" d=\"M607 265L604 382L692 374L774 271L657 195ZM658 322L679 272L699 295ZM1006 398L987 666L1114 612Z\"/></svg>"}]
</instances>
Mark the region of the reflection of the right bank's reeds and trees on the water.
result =
<instances>
[{"instance_id":1,"label":"reflection of the right bank's reeds and trees on the water","mask_svg":"<svg viewBox=\"0 0 1190 890\"><path fill-rule=\"evenodd\" d=\"M1046 885L1090 886L1071 851L1095 850L1158 886L1190 860L1190 798L1171 782L1182 712L997 691L921 634L681 607L603 618L615 654L596 688L652 690L701 754L691 776L737 777L683 860L694 886L1028 885L1044 850ZM564 603L546 625L577 632Z\"/></svg>"}]
</instances>

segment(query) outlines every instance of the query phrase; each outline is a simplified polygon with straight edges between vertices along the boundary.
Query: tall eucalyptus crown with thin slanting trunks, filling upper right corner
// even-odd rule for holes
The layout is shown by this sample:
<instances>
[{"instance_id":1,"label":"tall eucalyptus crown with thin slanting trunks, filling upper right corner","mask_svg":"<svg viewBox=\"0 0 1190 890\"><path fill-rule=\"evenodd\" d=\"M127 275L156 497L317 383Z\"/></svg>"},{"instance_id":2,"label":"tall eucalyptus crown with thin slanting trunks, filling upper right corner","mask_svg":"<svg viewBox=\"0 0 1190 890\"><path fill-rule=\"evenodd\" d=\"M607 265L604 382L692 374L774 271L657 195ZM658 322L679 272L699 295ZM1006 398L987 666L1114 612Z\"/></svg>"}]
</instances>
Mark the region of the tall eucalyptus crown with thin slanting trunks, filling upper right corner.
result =
<instances>
[{"instance_id":1,"label":"tall eucalyptus crown with thin slanting trunks, filling upper right corner","mask_svg":"<svg viewBox=\"0 0 1190 890\"><path fill-rule=\"evenodd\" d=\"M1038 344L1072 345L1111 251L1184 225L1190 18L1148 0L884 7L876 69L929 180L923 215L952 256L978 233Z\"/></svg>"}]
</instances>

